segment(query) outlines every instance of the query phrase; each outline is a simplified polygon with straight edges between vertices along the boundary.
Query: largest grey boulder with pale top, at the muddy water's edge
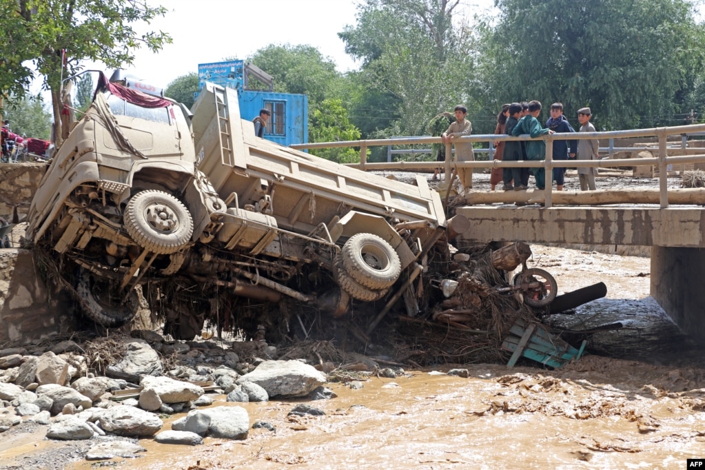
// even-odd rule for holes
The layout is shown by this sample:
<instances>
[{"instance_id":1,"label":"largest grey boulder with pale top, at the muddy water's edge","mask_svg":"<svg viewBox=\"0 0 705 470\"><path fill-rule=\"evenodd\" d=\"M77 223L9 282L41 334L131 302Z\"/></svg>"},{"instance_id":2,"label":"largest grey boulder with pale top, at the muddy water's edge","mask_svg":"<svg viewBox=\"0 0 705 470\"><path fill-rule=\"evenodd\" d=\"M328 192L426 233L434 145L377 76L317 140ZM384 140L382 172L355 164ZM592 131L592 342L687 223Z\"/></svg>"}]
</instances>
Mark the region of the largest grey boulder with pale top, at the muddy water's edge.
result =
<instances>
[{"instance_id":1,"label":"largest grey boulder with pale top, at the muddy water's edge","mask_svg":"<svg viewBox=\"0 0 705 470\"><path fill-rule=\"evenodd\" d=\"M269 397L303 397L326 383L326 376L301 361L264 361L257 369L238 378L238 383L256 383Z\"/></svg>"}]
</instances>

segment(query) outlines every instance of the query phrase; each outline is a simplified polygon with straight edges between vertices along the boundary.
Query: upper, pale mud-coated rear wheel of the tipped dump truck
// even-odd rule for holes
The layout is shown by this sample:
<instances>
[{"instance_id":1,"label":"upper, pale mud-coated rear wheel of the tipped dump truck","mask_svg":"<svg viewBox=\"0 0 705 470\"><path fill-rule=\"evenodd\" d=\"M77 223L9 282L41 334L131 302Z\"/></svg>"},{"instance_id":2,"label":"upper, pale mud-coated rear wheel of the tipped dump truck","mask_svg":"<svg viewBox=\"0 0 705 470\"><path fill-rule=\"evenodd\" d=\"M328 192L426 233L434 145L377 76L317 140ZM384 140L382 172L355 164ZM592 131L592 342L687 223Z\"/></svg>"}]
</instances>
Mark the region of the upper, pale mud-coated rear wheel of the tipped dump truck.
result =
<instances>
[{"instance_id":1,"label":"upper, pale mud-coated rear wheel of the tipped dump truck","mask_svg":"<svg viewBox=\"0 0 705 470\"><path fill-rule=\"evenodd\" d=\"M343 245L343 267L350 277L370 289L390 287L399 278L401 261L394 248L372 233L357 233Z\"/></svg>"}]
</instances>

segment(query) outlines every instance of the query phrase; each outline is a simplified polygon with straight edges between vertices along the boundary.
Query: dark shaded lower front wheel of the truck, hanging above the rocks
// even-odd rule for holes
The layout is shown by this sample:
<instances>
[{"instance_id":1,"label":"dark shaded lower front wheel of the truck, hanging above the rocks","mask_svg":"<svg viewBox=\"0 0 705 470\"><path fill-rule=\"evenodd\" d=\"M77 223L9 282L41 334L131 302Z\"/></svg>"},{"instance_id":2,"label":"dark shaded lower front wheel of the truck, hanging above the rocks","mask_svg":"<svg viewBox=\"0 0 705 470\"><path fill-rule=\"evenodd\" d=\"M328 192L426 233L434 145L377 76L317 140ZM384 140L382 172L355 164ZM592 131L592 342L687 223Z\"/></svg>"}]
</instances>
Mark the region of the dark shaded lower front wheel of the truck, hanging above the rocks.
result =
<instances>
[{"instance_id":1,"label":"dark shaded lower front wheel of the truck, hanging above the rocks","mask_svg":"<svg viewBox=\"0 0 705 470\"><path fill-rule=\"evenodd\" d=\"M135 318L140 307L137 291L129 292L111 287L109 283L96 280L82 270L76 286L83 314L99 325L116 328Z\"/></svg>"}]
</instances>

